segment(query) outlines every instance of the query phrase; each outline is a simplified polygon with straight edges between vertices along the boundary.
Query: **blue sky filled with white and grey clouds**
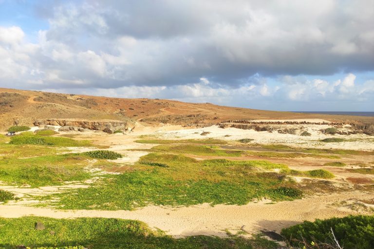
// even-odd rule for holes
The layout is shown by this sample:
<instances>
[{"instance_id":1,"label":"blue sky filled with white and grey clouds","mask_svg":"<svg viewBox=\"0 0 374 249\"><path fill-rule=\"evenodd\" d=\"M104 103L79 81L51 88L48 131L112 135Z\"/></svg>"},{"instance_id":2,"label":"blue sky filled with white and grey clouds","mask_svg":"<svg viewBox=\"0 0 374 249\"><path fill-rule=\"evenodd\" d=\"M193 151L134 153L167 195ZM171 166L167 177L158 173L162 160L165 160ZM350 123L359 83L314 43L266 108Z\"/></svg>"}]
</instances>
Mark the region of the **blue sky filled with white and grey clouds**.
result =
<instances>
[{"instance_id":1,"label":"blue sky filled with white and grey clouds","mask_svg":"<svg viewBox=\"0 0 374 249\"><path fill-rule=\"evenodd\" d=\"M0 87L374 111L374 0L0 0Z\"/></svg>"}]
</instances>

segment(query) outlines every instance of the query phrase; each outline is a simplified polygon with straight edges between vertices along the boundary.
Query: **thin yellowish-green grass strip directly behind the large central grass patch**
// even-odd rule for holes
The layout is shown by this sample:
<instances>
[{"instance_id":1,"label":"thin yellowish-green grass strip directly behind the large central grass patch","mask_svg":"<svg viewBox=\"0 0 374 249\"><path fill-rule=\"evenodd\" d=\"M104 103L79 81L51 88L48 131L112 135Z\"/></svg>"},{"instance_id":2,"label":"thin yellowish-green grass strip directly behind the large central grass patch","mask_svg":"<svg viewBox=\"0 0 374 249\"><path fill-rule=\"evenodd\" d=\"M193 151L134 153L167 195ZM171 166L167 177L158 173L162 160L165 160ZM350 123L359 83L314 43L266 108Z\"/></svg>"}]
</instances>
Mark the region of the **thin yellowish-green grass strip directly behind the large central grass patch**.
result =
<instances>
[{"instance_id":1,"label":"thin yellowish-green grass strip directly behind the large central grass patch","mask_svg":"<svg viewBox=\"0 0 374 249\"><path fill-rule=\"evenodd\" d=\"M198 146L191 144L182 144L176 146L158 145L153 147L151 150L222 157L240 157L243 154L243 151L239 150L223 150L217 146Z\"/></svg>"}]
</instances>

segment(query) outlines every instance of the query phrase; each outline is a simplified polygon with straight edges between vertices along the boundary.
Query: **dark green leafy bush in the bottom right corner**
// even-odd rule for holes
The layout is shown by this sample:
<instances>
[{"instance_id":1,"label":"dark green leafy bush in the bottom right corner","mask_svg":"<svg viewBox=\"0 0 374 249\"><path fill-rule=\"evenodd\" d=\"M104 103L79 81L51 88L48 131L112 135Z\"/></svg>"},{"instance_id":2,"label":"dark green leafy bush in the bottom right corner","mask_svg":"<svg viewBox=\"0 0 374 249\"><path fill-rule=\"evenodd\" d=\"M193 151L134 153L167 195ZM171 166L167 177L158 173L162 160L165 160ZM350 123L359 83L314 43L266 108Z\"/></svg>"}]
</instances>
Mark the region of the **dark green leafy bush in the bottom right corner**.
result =
<instances>
[{"instance_id":1,"label":"dark green leafy bush in the bottom right corner","mask_svg":"<svg viewBox=\"0 0 374 249\"><path fill-rule=\"evenodd\" d=\"M314 222L304 221L302 224L285 228L281 231L292 246L302 248L303 240L307 244L327 243L332 241L331 229L340 246L347 249L373 249L374 216L350 215L343 218L331 218Z\"/></svg>"}]
</instances>

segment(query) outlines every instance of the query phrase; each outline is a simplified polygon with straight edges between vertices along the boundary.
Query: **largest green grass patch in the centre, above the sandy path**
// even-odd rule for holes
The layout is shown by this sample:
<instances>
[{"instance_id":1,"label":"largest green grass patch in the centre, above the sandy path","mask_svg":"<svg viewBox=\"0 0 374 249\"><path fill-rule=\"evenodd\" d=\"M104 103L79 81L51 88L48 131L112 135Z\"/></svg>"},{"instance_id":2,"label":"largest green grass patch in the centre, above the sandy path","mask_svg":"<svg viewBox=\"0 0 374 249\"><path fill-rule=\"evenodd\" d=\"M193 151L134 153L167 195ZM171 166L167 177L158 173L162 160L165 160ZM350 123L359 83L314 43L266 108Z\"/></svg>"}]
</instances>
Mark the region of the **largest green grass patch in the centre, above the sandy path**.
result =
<instances>
[{"instance_id":1,"label":"largest green grass patch in the centre, above the sandy path","mask_svg":"<svg viewBox=\"0 0 374 249\"><path fill-rule=\"evenodd\" d=\"M146 162L146 164L141 164ZM154 165L168 167L154 167ZM287 168L268 161L195 160L183 155L150 153L134 165L140 170L103 176L90 188L55 195L58 209L132 210L148 205L188 206L201 203L243 205L257 198L299 198L280 187L298 189L283 174ZM291 191L291 190L290 190Z\"/></svg>"}]
</instances>

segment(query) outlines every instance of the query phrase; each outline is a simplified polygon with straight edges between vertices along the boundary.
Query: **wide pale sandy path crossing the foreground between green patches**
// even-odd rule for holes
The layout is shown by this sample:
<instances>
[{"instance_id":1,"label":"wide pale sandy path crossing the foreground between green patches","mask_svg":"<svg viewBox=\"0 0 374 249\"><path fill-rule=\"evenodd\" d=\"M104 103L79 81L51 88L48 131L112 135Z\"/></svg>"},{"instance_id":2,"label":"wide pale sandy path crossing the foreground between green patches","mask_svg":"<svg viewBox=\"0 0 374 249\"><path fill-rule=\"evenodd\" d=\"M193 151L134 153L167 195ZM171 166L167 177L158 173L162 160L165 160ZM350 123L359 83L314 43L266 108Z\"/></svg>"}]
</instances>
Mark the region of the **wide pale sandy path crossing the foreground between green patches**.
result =
<instances>
[{"instance_id":1,"label":"wide pale sandy path crossing the foreground between green patches","mask_svg":"<svg viewBox=\"0 0 374 249\"><path fill-rule=\"evenodd\" d=\"M15 203L0 205L0 216L13 218L28 215L53 218L105 217L133 219L146 222L150 227L157 227L173 236L196 234L221 235L224 229L238 231L243 225L248 232L262 229L280 232L282 228L297 224L303 220L330 218L355 213L347 209L331 206L335 202L355 199L368 199L373 196L362 192L350 192L329 196L283 201L276 204L249 203L243 206L208 204L191 207L148 206L135 211L97 211L77 210L58 211L53 209L18 206Z\"/></svg>"}]
</instances>

